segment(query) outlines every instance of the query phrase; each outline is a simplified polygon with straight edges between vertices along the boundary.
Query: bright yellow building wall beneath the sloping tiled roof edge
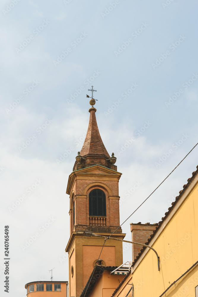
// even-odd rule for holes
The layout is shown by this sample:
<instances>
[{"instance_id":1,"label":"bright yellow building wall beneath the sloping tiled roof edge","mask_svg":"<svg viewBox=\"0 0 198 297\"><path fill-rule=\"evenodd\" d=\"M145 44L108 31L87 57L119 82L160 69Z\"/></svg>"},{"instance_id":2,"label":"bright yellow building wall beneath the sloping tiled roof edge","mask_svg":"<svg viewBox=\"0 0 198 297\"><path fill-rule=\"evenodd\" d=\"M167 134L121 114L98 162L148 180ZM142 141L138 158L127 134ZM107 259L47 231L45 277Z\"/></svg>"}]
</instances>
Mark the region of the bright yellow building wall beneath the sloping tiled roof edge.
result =
<instances>
[{"instance_id":1,"label":"bright yellow building wall beneath the sloping tiled roof edge","mask_svg":"<svg viewBox=\"0 0 198 297\"><path fill-rule=\"evenodd\" d=\"M134 270L132 276L134 297L159 297L172 282L198 260L197 210L198 187L196 185L152 245L160 257L160 271L157 268L157 257L152 250ZM139 287L137 287L138 282L142 282ZM198 266L173 285L164 296L195 296L197 285ZM180 292L181 290L183 293ZM122 292L116 296L126 296L124 294Z\"/></svg>"}]
</instances>

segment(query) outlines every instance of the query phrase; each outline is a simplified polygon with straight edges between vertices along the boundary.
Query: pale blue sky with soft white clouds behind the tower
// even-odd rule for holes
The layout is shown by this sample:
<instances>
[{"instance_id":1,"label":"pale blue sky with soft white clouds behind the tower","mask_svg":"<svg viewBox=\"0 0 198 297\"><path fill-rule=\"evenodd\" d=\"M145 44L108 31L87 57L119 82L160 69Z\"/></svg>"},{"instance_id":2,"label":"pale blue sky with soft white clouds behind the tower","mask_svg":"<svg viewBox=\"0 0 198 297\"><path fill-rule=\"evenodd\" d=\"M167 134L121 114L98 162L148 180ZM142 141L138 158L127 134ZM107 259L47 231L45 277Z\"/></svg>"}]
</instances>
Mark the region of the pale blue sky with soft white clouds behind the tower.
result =
<instances>
[{"instance_id":1,"label":"pale blue sky with soft white clouds behind the tower","mask_svg":"<svg viewBox=\"0 0 198 297\"><path fill-rule=\"evenodd\" d=\"M92 85L103 143L122 173L120 223L198 142L195 0L1 0L0 290L68 280L69 196ZM122 225L156 223L198 165L198 146ZM184 218L185 219L185 218ZM29 243L31 242L31 244ZM132 259L123 244L123 262Z\"/></svg>"}]
</instances>

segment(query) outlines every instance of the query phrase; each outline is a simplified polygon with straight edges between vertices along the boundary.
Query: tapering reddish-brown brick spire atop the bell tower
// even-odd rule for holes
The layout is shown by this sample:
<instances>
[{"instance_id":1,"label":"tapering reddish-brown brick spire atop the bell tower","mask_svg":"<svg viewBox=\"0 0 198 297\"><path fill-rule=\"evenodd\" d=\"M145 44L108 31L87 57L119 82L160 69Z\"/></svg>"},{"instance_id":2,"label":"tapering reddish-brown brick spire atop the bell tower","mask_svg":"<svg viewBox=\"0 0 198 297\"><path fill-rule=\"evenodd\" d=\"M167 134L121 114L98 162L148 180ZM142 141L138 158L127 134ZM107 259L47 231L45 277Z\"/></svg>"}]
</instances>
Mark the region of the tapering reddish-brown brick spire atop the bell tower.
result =
<instances>
[{"instance_id":1,"label":"tapering reddish-brown brick spire atop the bell tower","mask_svg":"<svg viewBox=\"0 0 198 297\"><path fill-rule=\"evenodd\" d=\"M102 142L98 125L96 122L96 108L92 107L89 109L90 118L89 118L89 125L87 130L87 135L83 144L83 147L80 151L82 157L103 157L105 159L109 159L110 155L108 154L104 143ZM102 159L103 159L102 158Z\"/></svg>"}]
</instances>

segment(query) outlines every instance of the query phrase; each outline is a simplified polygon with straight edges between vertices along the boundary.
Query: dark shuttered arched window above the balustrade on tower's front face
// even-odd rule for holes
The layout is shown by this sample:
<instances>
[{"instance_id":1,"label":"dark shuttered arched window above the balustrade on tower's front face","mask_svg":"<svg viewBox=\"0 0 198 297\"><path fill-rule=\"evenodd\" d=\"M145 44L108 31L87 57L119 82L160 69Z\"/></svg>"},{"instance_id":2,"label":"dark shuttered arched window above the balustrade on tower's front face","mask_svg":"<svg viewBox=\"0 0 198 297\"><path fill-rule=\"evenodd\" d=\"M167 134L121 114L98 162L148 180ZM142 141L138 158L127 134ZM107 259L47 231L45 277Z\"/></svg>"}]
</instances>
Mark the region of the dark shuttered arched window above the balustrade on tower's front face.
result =
<instances>
[{"instance_id":1,"label":"dark shuttered arched window above the balustrade on tower's front face","mask_svg":"<svg viewBox=\"0 0 198 297\"><path fill-rule=\"evenodd\" d=\"M89 215L106 217L106 196L101 189L89 193Z\"/></svg>"}]
</instances>

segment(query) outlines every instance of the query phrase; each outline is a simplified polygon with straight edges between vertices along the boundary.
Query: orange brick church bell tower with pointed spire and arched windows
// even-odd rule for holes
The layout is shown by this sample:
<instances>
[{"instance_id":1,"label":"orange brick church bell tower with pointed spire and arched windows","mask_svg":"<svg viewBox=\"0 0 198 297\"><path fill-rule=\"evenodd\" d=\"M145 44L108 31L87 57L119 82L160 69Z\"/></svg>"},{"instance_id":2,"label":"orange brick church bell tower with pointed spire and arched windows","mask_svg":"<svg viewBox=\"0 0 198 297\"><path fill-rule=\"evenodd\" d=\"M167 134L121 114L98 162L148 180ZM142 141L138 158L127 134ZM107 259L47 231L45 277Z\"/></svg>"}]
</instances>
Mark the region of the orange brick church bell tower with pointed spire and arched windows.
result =
<instances>
[{"instance_id":1,"label":"orange brick church bell tower with pointed spire and arched windows","mask_svg":"<svg viewBox=\"0 0 198 297\"><path fill-rule=\"evenodd\" d=\"M94 104L92 92L87 135L66 190L70 199L70 238L66 247L70 297L79 297L82 293L104 244L104 238L83 236L83 232L77 231L88 230L108 237L120 225L118 182L121 173L114 165L114 154L110 157L100 137ZM124 236L119 227L112 237L123 239ZM120 266L122 242L108 239L100 260L103 266Z\"/></svg>"}]
</instances>

